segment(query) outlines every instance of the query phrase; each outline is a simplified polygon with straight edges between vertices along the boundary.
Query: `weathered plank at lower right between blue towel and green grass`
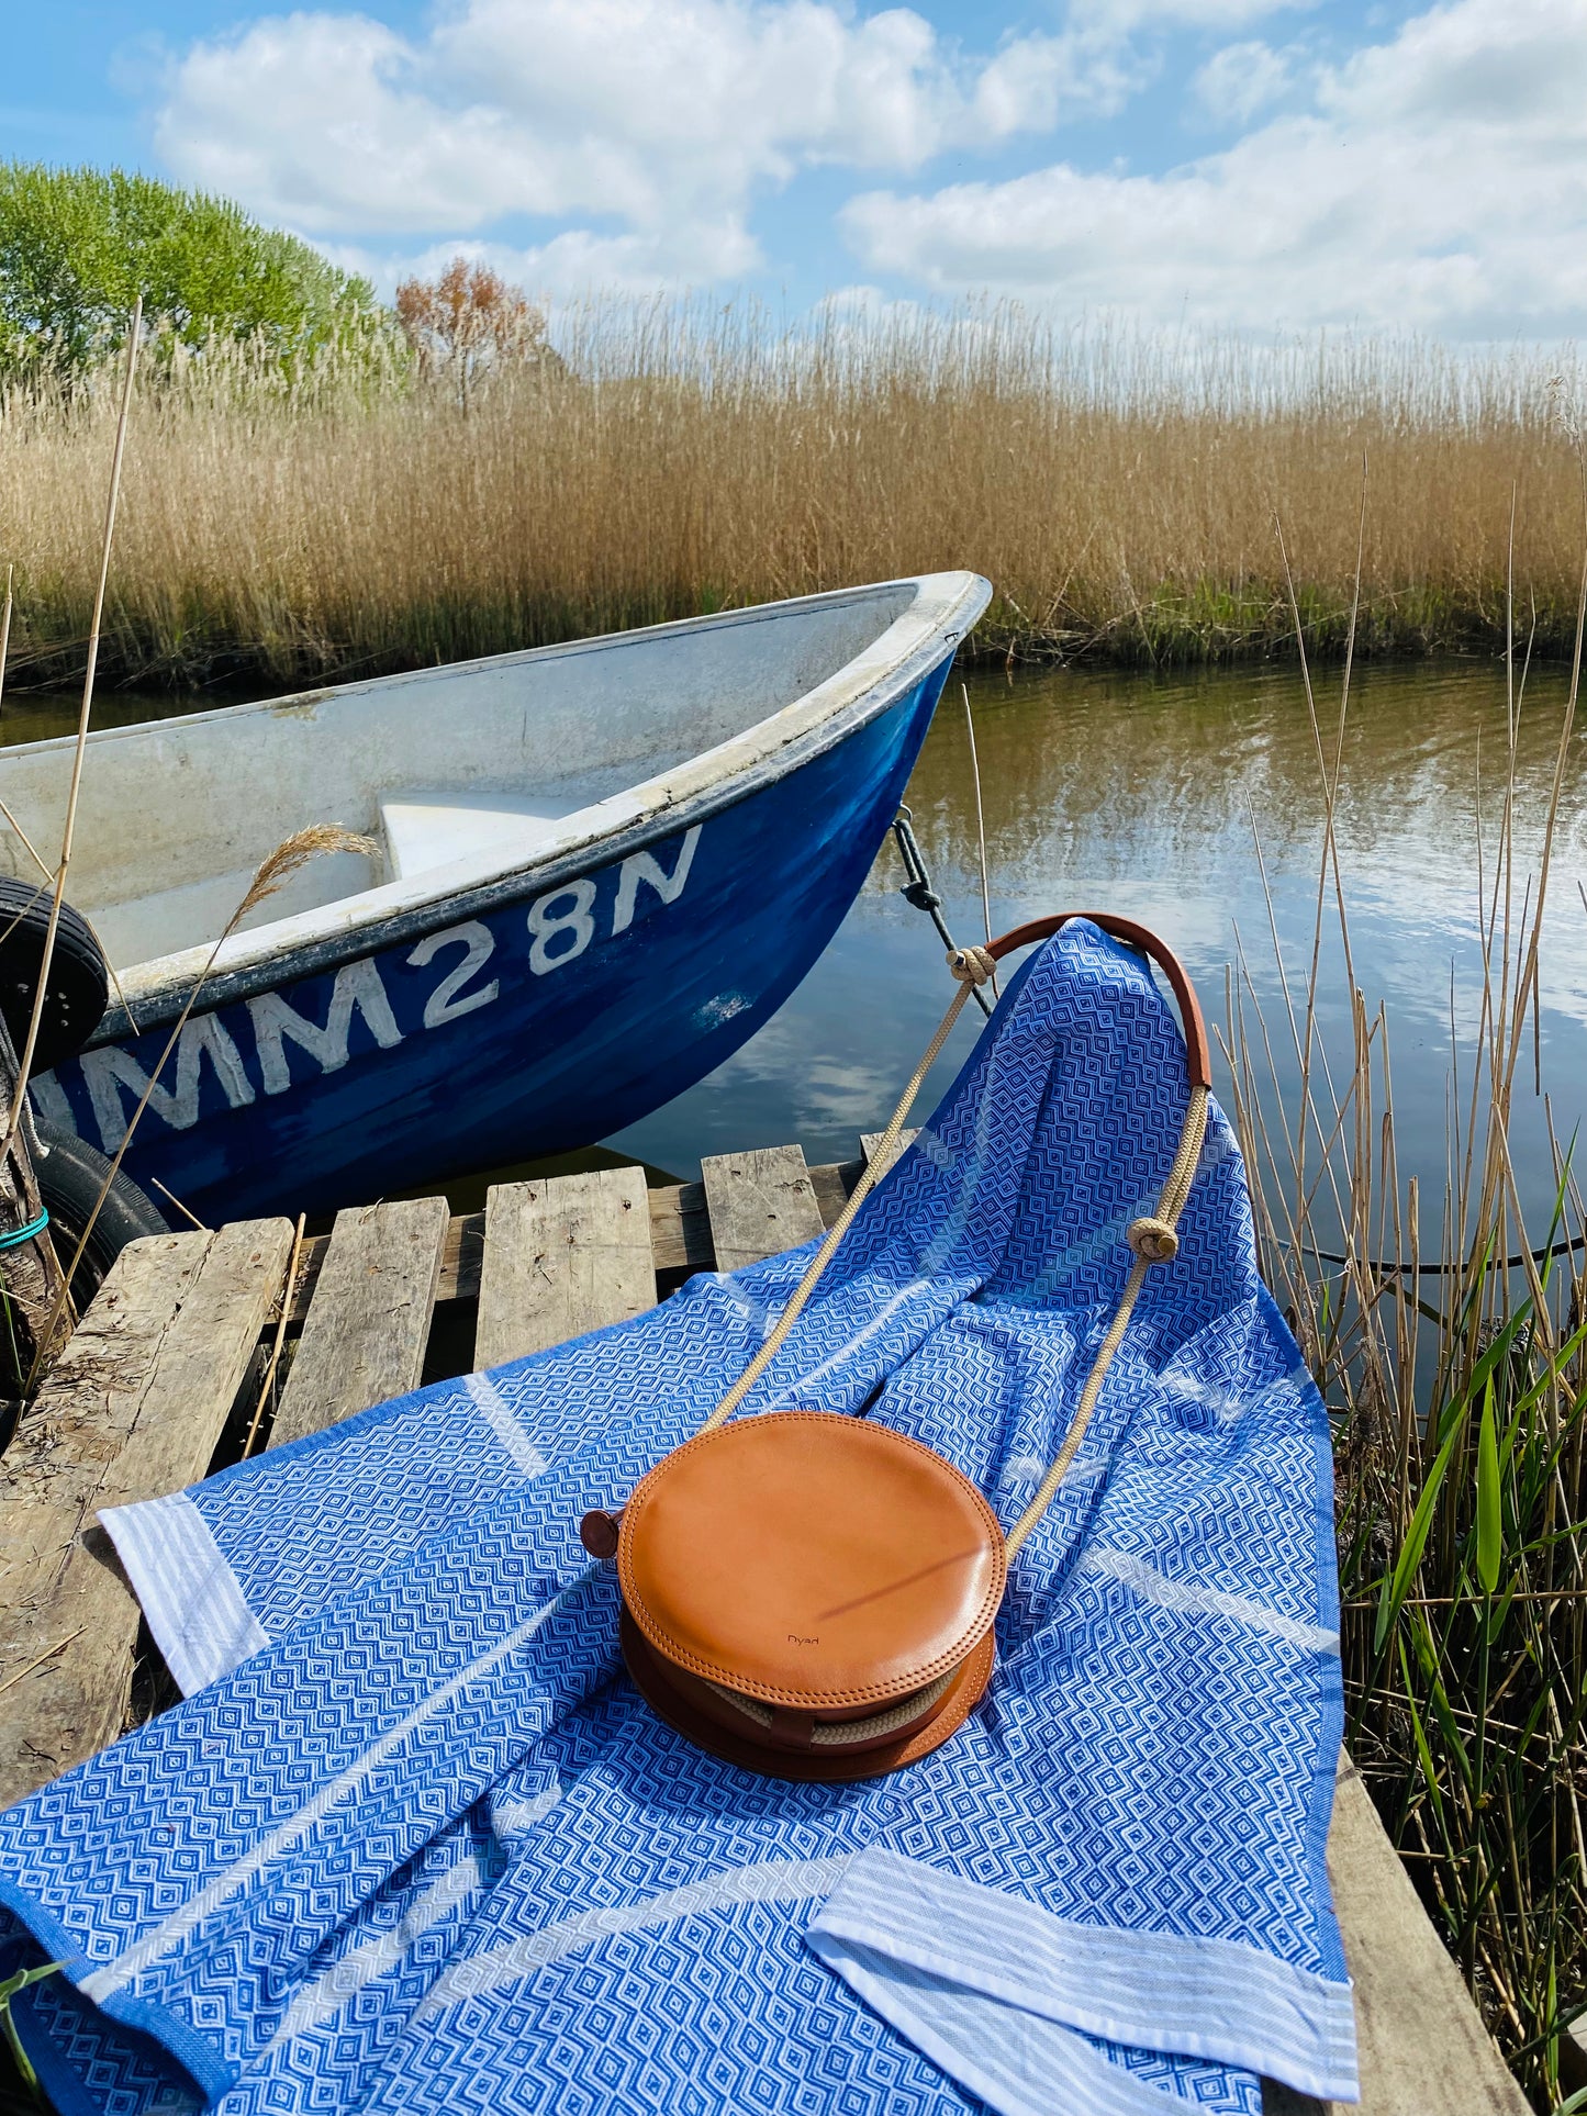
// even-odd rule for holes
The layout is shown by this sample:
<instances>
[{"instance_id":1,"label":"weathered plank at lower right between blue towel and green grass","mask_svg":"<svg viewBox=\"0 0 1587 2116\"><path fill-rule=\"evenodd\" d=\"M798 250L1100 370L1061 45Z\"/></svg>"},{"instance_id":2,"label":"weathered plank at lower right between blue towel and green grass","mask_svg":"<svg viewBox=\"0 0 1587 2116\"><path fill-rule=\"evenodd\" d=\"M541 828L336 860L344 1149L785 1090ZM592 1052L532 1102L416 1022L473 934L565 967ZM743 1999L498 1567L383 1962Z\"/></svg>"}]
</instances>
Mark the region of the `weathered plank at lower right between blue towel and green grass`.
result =
<instances>
[{"instance_id":1,"label":"weathered plank at lower right between blue towel and green grass","mask_svg":"<svg viewBox=\"0 0 1587 2116\"><path fill-rule=\"evenodd\" d=\"M1346 1756L1333 1792L1329 1877L1356 1987L1361 2103L1263 2088L1265 2116L1526 2116L1526 2095L1433 1930L1361 1771Z\"/></svg>"}]
</instances>

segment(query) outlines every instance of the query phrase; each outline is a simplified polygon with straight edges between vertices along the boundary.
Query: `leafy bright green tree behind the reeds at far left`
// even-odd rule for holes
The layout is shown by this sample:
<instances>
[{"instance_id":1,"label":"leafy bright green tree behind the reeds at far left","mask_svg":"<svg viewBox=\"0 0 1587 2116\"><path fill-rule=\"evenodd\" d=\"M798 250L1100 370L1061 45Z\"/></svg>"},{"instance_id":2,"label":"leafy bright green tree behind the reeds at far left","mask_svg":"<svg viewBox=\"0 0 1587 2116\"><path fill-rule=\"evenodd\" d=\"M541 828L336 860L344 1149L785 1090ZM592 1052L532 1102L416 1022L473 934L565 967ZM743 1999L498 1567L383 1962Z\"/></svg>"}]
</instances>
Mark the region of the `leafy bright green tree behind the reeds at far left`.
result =
<instances>
[{"instance_id":1,"label":"leafy bright green tree behind the reeds at far left","mask_svg":"<svg viewBox=\"0 0 1587 2116\"><path fill-rule=\"evenodd\" d=\"M123 169L0 163L0 370L70 379L121 343L138 294L167 343L355 343L375 292L239 205Z\"/></svg>"}]
</instances>

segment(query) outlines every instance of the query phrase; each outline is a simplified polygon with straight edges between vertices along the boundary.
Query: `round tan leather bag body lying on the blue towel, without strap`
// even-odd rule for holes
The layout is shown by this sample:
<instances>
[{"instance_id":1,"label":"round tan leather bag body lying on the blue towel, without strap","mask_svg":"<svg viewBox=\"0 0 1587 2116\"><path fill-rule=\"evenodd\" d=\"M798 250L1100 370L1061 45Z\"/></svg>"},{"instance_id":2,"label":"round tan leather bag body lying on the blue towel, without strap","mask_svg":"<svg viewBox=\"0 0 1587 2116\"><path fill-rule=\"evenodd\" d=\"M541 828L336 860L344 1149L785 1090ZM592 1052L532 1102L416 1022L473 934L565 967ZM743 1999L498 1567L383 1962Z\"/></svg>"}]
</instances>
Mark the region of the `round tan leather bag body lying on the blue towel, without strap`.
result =
<instances>
[{"instance_id":1,"label":"round tan leather bag body lying on the blue towel, without strap","mask_svg":"<svg viewBox=\"0 0 1587 2116\"><path fill-rule=\"evenodd\" d=\"M770 1777L876 1777L992 1674L1003 1530L920 1441L774 1411L669 1454L618 1528L622 1650L679 1733Z\"/></svg>"}]
</instances>

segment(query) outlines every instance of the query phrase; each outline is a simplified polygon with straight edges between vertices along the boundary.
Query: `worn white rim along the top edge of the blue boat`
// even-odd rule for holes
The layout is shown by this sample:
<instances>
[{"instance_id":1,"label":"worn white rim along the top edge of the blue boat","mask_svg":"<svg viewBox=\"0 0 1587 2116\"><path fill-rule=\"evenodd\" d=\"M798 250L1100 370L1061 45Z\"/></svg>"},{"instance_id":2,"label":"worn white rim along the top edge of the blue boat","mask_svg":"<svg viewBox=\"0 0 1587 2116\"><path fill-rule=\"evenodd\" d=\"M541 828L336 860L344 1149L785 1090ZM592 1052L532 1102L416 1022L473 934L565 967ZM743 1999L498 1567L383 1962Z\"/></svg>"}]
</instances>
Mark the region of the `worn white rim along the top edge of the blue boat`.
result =
<instances>
[{"instance_id":1,"label":"worn white rim along the top edge of the blue boat","mask_svg":"<svg viewBox=\"0 0 1587 2116\"><path fill-rule=\"evenodd\" d=\"M222 719L233 713L290 711L326 698L368 692L383 683L408 683L425 677L455 677L504 662L544 660L565 654L588 654L635 639L656 639L677 633L711 631L728 624L766 622L789 609L810 605L842 605L878 595L887 588L912 586L914 601L893 622L851 656L840 669L802 692L787 705L753 722L741 734L688 758L671 772L635 781L603 802L578 810L586 817L578 834L548 846L514 865L487 865L480 855L468 855L444 868L432 868L411 882L381 882L375 889L336 897L326 906L294 912L235 933L222 944L214 971L203 980L201 1011L250 999L284 984L328 973L343 963L421 940L427 933L459 925L514 899L544 895L567 887L590 872L595 863L612 865L650 844L705 823L774 781L800 770L827 749L849 741L870 719L893 707L916 681L935 669L944 652L952 652L975 626L990 599L990 584L971 571L916 573L901 580L868 582L859 588L836 588L823 595L789 597L781 603L755 603L749 609L717 612L705 618L683 618L669 624L637 626L626 633L603 633L597 639L573 639L554 647L527 647L521 654L491 654L472 662L446 662L440 669L406 671L398 677L370 677L366 683L339 683L328 690L300 692L290 698L269 698L256 705L216 707L195 713L193 722ZM901 635L901 637L899 637ZM882 656L887 656L882 660ZM882 662L880 667L878 660ZM874 673L872 673L874 671ZM868 681L855 688L855 677ZM184 722L186 726L188 722ZM146 732L159 722L131 728L104 728L97 738L116 741ZM72 736L49 743L19 743L13 753L72 745ZM89 734L95 741L95 734ZM679 787L681 781L681 787ZM603 817L605 810L605 819ZM590 855L599 855L592 861ZM449 878L453 878L449 882ZM385 899L385 901L379 901ZM358 906L360 916L345 916ZM339 916L341 914L341 916ZM315 931L317 927L317 931ZM300 937L294 940L292 929ZM305 931L307 929L307 931ZM286 942L286 946L284 946ZM116 999L102 1016L87 1050L148 1035L176 1020L188 1003L214 942L152 956L118 971L121 988L133 1014Z\"/></svg>"}]
</instances>

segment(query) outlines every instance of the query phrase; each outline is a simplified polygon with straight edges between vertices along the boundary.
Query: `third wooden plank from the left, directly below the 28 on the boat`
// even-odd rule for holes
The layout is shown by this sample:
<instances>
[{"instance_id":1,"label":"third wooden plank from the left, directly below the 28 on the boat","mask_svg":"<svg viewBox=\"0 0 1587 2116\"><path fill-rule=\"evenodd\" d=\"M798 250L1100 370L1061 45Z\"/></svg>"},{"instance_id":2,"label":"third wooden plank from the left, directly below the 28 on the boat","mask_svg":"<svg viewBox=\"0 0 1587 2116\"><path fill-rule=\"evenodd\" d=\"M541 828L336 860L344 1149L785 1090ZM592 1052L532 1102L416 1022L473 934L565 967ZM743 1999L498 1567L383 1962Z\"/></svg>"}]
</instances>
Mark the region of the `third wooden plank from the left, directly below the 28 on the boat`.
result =
<instances>
[{"instance_id":1,"label":"third wooden plank from the left, directly below the 28 on the boat","mask_svg":"<svg viewBox=\"0 0 1587 2116\"><path fill-rule=\"evenodd\" d=\"M656 1301L643 1168L493 1183L474 1365L499 1367Z\"/></svg>"}]
</instances>

